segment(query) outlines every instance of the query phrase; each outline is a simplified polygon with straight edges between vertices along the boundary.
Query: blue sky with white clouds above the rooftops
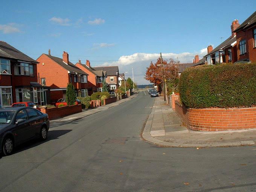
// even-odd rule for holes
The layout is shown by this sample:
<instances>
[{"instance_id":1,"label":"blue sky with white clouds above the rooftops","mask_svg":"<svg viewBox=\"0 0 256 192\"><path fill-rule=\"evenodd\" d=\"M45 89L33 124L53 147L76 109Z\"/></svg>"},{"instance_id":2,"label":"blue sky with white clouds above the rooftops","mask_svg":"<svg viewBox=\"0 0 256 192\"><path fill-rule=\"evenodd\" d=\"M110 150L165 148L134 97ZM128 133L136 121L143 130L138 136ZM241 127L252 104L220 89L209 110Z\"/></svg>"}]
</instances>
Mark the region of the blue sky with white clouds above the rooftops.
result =
<instances>
[{"instance_id":1,"label":"blue sky with white clouds above the rooftops","mask_svg":"<svg viewBox=\"0 0 256 192\"><path fill-rule=\"evenodd\" d=\"M192 62L208 45L218 46L256 8L255 0L199 1L5 1L0 12L0 40L37 59L69 53L71 62L118 65L138 84L150 61Z\"/></svg>"}]
</instances>

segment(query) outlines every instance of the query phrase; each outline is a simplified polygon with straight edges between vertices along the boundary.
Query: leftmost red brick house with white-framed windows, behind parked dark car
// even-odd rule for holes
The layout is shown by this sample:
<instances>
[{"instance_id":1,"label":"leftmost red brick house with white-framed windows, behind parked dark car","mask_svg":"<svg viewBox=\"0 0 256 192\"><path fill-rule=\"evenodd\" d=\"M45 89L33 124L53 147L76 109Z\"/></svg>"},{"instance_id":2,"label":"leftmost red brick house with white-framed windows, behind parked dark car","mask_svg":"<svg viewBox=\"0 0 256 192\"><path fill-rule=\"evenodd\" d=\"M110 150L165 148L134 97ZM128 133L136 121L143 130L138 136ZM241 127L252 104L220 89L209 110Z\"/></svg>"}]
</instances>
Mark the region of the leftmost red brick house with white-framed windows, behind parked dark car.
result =
<instances>
[{"instance_id":1,"label":"leftmost red brick house with white-framed windows, behind parked dark car","mask_svg":"<svg viewBox=\"0 0 256 192\"><path fill-rule=\"evenodd\" d=\"M46 104L46 92L37 78L38 62L0 41L0 105L32 101Z\"/></svg>"}]
</instances>

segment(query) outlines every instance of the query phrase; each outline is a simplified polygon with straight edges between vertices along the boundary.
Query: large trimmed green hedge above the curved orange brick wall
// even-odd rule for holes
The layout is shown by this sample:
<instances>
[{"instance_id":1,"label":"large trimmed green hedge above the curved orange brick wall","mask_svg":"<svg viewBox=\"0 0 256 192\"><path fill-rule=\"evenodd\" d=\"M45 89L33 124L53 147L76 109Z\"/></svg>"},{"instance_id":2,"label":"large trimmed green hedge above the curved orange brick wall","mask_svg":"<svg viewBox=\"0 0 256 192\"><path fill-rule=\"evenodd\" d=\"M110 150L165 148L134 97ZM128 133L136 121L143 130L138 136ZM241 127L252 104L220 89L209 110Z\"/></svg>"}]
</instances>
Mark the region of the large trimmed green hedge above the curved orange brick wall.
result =
<instances>
[{"instance_id":1,"label":"large trimmed green hedge above the curved orange brick wall","mask_svg":"<svg viewBox=\"0 0 256 192\"><path fill-rule=\"evenodd\" d=\"M256 105L256 64L221 64L186 69L180 99L187 108Z\"/></svg>"}]
</instances>

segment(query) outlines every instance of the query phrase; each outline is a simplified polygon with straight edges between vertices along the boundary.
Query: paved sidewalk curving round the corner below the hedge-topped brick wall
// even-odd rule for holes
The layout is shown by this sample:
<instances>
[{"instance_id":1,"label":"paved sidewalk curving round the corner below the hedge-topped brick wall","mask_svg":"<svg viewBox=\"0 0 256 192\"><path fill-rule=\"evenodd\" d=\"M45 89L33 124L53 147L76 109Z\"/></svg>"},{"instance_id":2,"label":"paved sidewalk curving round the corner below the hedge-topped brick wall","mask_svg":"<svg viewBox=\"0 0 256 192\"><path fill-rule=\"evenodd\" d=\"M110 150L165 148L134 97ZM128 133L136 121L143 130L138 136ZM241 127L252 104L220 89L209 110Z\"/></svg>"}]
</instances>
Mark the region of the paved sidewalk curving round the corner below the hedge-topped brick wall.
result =
<instances>
[{"instance_id":1,"label":"paved sidewalk curving round the corner below the hedge-topped brick wall","mask_svg":"<svg viewBox=\"0 0 256 192\"><path fill-rule=\"evenodd\" d=\"M242 146L256 144L256 129L215 132L188 130L161 96L155 98L142 137L169 147Z\"/></svg>"}]
</instances>

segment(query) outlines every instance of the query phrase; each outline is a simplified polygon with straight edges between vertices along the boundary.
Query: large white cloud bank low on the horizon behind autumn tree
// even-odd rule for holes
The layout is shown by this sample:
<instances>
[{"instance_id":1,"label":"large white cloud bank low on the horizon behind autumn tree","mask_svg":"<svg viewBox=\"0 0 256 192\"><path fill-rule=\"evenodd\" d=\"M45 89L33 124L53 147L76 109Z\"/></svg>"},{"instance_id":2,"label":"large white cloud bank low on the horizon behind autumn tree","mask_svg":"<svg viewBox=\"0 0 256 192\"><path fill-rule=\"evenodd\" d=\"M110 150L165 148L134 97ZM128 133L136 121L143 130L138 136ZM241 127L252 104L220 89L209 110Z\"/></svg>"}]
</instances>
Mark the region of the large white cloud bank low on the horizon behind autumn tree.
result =
<instances>
[{"instance_id":1,"label":"large white cloud bank low on the horizon behind autumn tree","mask_svg":"<svg viewBox=\"0 0 256 192\"><path fill-rule=\"evenodd\" d=\"M207 49L206 49L207 50ZM201 49L199 53L162 53L164 60L174 59L180 63L192 63L195 55L199 55L199 59L205 55L205 49ZM134 53L132 55L121 56L117 61L104 62L98 66L119 66L119 72L128 72L127 78L132 77L131 67L134 69L134 81L141 84L150 84L144 79L146 67L149 67L150 62L156 62L160 57L160 53ZM125 75L126 76L126 75Z\"/></svg>"}]
</instances>

